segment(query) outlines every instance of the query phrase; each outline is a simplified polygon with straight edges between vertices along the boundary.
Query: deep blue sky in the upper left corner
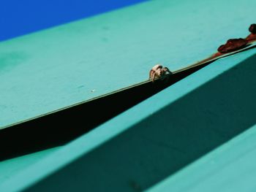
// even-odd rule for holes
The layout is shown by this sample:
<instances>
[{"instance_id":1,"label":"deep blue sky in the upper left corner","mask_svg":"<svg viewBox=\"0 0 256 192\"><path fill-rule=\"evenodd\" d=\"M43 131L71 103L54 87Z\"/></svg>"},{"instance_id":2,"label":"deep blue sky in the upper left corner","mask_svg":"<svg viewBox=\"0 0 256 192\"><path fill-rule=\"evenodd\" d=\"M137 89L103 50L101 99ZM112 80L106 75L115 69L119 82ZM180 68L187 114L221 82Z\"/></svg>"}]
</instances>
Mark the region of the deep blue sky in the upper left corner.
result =
<instances>
[{"instance_id":1,"label":"deep blue sky in the upper left corner","mask_svg":"<svg viewBox=\"0 0 256 192\"><path fill-rule=\"evenodd\" d=\"M0 41L146 0L1 0Z\"/></svg>"}]
</instances>

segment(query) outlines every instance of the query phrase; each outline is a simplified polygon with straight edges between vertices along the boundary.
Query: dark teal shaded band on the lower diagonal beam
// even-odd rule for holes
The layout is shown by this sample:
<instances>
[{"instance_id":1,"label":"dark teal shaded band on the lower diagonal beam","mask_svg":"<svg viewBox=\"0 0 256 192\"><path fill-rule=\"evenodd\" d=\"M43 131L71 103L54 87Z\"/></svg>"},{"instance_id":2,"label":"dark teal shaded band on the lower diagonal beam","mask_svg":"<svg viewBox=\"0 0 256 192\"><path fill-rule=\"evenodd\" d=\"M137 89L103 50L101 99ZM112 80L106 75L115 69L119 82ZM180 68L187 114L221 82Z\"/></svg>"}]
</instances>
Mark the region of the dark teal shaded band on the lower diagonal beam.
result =
<instances>
[{"instance_id":1,"label":"dark teal shaded band on the lower diagonal beam","mask_svg":"<svg viewBox=\"0 0 256 192\"><path fill-rule=\"evenodd\" d=\"M255 125L255 77L256 55L26 191L146 190Z\"/></svg>"}]
</instances>

